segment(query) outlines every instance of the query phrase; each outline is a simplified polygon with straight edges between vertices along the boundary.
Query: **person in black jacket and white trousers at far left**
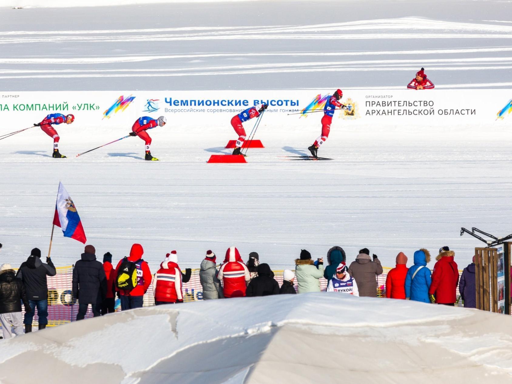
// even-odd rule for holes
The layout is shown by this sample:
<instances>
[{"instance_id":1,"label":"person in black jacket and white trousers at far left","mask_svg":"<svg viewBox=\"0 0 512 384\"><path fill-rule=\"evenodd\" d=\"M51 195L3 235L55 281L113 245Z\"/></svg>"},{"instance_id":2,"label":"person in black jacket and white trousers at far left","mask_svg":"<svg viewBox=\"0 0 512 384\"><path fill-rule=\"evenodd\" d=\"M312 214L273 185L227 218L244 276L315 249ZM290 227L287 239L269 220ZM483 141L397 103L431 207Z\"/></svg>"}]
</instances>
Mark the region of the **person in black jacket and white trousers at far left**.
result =
<instances>
[{"instance_id":1,"label":"person in black jacket and white trousers at far left","mask_svg":"<svg viewBox=\"0 0 512 384\"><path fill-rule=\"evenodd\" d=\"M16 279L10 264L0 267L0 324L4 338L23 335L22 301L25 311L30 311L27 292L21 279Z\"/></svg>"}]
</instances>

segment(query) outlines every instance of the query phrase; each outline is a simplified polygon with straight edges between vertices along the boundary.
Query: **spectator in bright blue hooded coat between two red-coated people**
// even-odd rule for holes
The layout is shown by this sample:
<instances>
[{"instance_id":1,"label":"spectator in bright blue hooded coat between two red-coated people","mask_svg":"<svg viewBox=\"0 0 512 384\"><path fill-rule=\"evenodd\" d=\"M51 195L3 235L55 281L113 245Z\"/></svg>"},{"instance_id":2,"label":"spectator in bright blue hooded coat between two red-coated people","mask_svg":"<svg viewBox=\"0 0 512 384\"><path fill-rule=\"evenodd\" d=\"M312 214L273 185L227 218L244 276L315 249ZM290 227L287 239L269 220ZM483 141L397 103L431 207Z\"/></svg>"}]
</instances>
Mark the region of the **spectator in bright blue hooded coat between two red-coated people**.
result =
<instances>
[{"instance_id":1,"label":"spectator in bright blue hooded coat between two red-coated people","mask_svg":"<svg viewBox=\"0 0 512 384\"><path fill-rule=\"evenodd\" d=\"M424 248L414 252L414 265L406 276L406 298L423 303L430 303L429 288L432 283L430 269L430 252Z\"/></svg>"}]
</instances>

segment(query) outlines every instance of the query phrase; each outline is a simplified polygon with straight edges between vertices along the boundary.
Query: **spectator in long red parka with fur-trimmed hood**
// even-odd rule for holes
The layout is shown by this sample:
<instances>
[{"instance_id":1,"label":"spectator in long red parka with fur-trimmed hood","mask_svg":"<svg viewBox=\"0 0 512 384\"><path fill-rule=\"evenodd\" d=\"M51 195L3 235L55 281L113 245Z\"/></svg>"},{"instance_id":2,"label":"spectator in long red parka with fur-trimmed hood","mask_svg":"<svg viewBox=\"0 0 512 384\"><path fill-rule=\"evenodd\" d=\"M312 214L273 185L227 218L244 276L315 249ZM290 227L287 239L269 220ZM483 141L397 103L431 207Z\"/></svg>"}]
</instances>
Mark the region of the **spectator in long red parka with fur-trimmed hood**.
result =
<instances>
[{"instance_id":1,"label":"spectator in long red parka with fur-trimmed hood","mask_svg":"<svg viewBox=\"0 0 512 384\"><path fill-rule=\"evenodd\" d=\"M459 269L453 260L454 256L455 252L449 247L439 249L429 289L429 298L432 303L454 306L457 301Z\"/></svg>"}]
</instances>

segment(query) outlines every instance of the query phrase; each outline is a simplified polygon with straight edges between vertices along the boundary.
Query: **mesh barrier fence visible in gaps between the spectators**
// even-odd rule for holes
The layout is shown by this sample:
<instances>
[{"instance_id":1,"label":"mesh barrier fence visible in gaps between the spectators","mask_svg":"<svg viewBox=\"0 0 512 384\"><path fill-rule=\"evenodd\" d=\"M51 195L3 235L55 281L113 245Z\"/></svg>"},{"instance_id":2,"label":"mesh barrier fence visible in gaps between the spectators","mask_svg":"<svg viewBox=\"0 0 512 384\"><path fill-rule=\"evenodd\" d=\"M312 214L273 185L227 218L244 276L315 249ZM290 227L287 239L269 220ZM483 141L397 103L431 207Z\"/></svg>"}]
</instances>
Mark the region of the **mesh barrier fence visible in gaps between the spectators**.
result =
<instances>
[{"instance_id":1,"label":"mesh barrier fence visible in gaps between the spectators","mask_svg":"<svg viewBox=\"0 0 512 384\"><path fill-rule=\"evenodd\" d=\"M48 326L53 327L60 324L70 323L76 321L78 313L78 302L73 300L72 294L72 280L73 280L73 266L58 267L55 276L48 277ZM377 295L378 297L386 297L386 277L391 268L383 267L384 272L377 276ZM462 271L459 271L459 274ZM283 283L283 270L274 270L274 278L278 281L279 285ZM323 291L327 289L327 280L320 279L320 285ZM297 284L295 282L295 289ZM183 284L183 299L184 302L192 302L202 300L203 289L199 280L199 269L193 269L188 283ZM460 302L459 289L457 288L457 303ZM153 295L153 287L147 290L144 295L144 307L155 305ZM23 306L22 306L23 307ZM121 310L121 304L116 298L116 311ZM25 310L23 310L25 315ZM86 317L92 317L92 309L89 306ZM37 326L38 316L37 311L34 316L33 324Z\"/></svg>"}]
</instances>

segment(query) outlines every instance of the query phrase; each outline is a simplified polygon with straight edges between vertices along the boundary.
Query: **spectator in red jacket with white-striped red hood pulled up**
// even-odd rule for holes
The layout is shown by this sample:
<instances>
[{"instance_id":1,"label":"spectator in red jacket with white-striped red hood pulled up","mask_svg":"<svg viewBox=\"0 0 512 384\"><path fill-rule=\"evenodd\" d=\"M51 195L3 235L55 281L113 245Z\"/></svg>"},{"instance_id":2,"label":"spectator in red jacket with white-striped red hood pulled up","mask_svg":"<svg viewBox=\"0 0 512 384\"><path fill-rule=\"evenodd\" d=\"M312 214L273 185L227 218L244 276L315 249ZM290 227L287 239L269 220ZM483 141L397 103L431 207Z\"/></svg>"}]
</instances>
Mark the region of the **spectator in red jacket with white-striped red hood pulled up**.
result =
<instances>
[{"instance_id":1,"label":"spectator in red jacket with white-striped red hood pulled up","mask_svg":"<svg viewBox=\"0 0 512 384\"><path fill-rule=\"evenodd\" d=\"M245 290L247 289L247 283L251 280L251 275L242 261L238 249L234 246L227 249L226 258L219 269L218 278L222 280L224 297L245 296Z\"/></svg>"}]
</instances>

